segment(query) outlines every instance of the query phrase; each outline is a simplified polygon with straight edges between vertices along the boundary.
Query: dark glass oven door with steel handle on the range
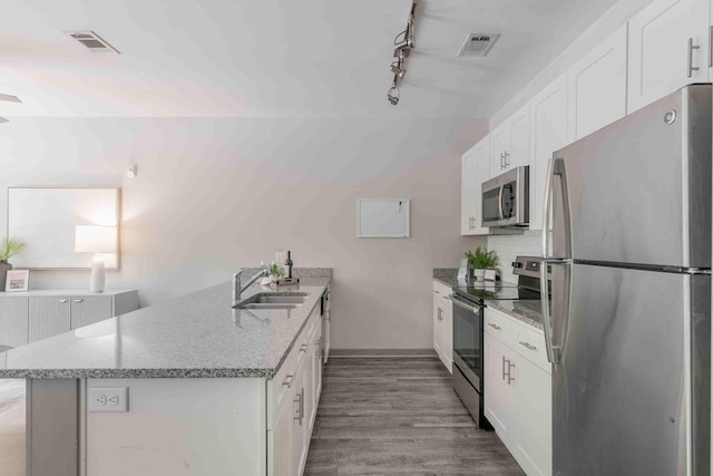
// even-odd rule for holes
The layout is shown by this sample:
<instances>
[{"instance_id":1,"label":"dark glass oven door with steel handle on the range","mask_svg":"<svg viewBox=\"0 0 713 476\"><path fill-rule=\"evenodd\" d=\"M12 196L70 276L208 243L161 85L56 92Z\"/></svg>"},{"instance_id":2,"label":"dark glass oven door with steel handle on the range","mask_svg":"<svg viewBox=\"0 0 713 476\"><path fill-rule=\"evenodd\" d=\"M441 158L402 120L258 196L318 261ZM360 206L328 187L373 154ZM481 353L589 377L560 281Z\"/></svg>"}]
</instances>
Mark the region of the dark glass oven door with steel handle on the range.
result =
<instances>
[{"instance_id":1,"label":"dark glass oven door with steel handle on the range","mask_svg":"<svg viewBox=\"0 0 713 476\"><path fill-rule=\"evenodd\" d=\"M482 378L482 308L451 295L453 303L453 363L478 392Z\"/></svg>"}]
</instances>

